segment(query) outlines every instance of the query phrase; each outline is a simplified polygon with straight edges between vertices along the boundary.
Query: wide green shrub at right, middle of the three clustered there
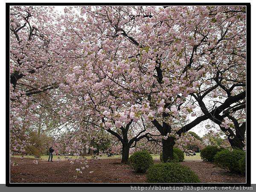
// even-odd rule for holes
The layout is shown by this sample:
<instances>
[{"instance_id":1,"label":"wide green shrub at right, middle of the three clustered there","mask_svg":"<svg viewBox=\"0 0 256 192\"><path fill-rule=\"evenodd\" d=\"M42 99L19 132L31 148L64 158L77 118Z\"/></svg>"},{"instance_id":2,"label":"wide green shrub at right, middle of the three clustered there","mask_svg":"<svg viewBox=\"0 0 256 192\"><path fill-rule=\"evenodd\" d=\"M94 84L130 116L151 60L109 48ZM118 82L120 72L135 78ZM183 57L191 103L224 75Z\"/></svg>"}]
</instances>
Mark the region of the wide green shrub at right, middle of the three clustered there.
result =
<instances>
[{"instance_id":1,"label":"wide green shrub at right, middle of the three clustered there","mask_svg":"<svg viewBox=\"0 0 256 192\"><path fill-rule=\"evenodd\" d=\"M239 160L243 157L245 157L245 151L240 149L235 149L233 151L222 150L215 155L214 163L226 171L240 173Z\"/></svg>"}]
</instances>

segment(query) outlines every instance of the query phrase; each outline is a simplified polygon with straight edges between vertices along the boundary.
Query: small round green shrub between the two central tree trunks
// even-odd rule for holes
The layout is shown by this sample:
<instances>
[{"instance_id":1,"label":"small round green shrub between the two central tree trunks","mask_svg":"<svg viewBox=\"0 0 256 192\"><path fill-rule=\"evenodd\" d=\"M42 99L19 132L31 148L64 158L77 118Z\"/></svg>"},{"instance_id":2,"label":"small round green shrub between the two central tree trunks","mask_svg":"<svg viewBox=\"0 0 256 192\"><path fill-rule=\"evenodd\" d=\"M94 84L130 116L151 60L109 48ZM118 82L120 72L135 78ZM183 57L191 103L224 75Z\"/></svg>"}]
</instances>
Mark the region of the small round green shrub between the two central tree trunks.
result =
<instances>
[{"instance_id":1,"label":"small round green shrub between the two central tree trunks","mask_svg":"<svg viewBox=\"0 0 256 192\"><path fill-rule=\"evenodd\" d=\"M148 151L137 151L129 157L128 164L137 173L145 173L154 161Z\"/></svg>"}]
</instances>

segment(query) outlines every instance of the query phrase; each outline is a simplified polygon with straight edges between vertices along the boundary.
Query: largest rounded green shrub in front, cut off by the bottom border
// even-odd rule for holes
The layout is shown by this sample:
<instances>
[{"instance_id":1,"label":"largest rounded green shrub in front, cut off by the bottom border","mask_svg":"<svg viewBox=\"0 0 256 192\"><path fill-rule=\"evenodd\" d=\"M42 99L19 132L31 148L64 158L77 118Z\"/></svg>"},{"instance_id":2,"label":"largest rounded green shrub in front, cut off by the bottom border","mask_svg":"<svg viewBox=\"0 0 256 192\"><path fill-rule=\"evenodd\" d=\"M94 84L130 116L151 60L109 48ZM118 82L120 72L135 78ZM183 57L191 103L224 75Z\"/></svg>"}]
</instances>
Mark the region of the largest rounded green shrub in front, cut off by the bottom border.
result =
<instances>
[{"instance_id":1,"label":"largest rounded green shrub in front, cut off by the bottom border","mask_svg":"<svg viewBox=\"0 0 256 192\"><path fill-rule=\"evenodd\" d=\"M147 171L148 183L200 183L198 176L189 167L179 163L158 163Z\"/></svg>"}]
</instances>

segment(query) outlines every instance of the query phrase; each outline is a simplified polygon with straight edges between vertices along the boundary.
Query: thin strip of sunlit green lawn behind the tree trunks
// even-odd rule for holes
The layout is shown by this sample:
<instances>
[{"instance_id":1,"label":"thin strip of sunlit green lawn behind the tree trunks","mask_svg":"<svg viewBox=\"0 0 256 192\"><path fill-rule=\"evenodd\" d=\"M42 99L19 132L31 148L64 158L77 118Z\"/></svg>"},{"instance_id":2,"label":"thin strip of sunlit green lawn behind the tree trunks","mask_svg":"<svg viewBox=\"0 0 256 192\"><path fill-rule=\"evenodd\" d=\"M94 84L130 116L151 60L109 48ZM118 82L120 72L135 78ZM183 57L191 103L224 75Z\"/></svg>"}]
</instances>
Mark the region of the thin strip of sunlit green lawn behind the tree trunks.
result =
<instances>
[{"instance_id":1,"label":"thin strip of sunlit green lawn behind the tree trunks","mask_svg":"<svg viewBox=\"0 0 256 192\"><path fill-rule=\"evenodd\" d=\"M159 160L160 158L160 155L159 154L151 154L151 156L153 157L154 160ZM18 157L20 158L21 156L20 155L13 155L12 157ZM35 158L34 156L32 155L25 155L23 156L24 158L28 157L28 158ZM42 155L41 156L41 159L42 160L48 160L48 155ZM58 158L59 157L59 158ZM79 159L79 157L77 156L60 156L60 155L53 155L53 158L52 160L67 160L67 158L65 157L69 157L70 159L72 160L75 160L75 159ZM201 160L201 157L200 157L200 153L196 153L196 155L194 156L186 156L186 154L184 154L184 157L185 157L185 160ZM86 156L87 159L91 159L91 156ZM102 155L102 157L100 157L101 159L115 159L115 158L121 158L120 155L114 155L112 157L108 157L108 155Z\"/></svg>"}]
</instances>

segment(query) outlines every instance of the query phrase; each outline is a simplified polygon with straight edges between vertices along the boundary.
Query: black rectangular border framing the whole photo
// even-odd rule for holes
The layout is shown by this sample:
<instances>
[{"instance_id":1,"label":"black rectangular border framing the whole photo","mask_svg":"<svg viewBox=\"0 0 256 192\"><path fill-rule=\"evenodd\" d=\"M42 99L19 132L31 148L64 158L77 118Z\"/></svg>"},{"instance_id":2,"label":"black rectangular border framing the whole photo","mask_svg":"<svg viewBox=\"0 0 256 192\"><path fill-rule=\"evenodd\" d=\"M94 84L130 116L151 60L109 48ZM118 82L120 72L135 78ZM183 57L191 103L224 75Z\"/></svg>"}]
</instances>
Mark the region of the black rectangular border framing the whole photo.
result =
<instances>
[{"instance_id":1,"label":"black rectangular border framing the whole photo","mask_svg":"<svg viewBox=\"0 0 256 192\"><path fill-rule=\"evenodd\" d=\"M246 183L10 183L10 6L246 6ZM6 3L6 186L251 186L251 5L250 3Z\"/></svg>"}]
</instances>

